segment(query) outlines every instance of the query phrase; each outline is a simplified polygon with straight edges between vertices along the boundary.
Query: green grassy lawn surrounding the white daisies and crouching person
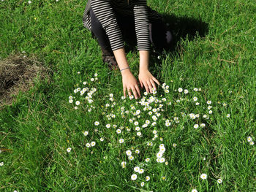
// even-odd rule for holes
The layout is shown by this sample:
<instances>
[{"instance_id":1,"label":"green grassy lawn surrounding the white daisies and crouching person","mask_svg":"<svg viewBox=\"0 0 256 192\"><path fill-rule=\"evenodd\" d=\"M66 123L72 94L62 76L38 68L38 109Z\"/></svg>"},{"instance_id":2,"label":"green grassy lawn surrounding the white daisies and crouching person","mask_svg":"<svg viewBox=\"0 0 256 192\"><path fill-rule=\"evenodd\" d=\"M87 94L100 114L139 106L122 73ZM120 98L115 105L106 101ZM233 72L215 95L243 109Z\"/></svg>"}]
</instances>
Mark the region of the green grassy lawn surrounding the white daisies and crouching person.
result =
<instances>
[{"instance_id":1,"label":"green grassy lawn surrounding the white daisies and crouching person","mask_svg":"<svg viewBox=\"0 0 256 192\"><path fill-rule=\"evenodd\" d=\"M1 58L26 51L53 74L50 83L37 82L0 112L0 191L256 190L255 145L247 141L255 141L256 127L255 1L149 0L148 5L169 15L178 38L176 50L151 59L150 71L169 86L169 93L159 86L146 96L166 99L149 104L151 111L159 109L152 114L160 114L156 126L150 108L144 111L135 99L121 99L121 74L103 66L99 45L82 26L86 1L1 1ZM138 53L130 51L127 58L138 77ZM96 88L91 104L87 93L74 93L86 87ZM80 101L77 110L75 101ZM131 105L140 110L139 117ZM192 119L191 113L200 116ZM91 142L96 145L87 147ZM157 162L160 144L165 145L164 163ZM136 173L135 166L144 172ZM200 178L203 173L206 180Z\"/></svg>"}]
</instances>

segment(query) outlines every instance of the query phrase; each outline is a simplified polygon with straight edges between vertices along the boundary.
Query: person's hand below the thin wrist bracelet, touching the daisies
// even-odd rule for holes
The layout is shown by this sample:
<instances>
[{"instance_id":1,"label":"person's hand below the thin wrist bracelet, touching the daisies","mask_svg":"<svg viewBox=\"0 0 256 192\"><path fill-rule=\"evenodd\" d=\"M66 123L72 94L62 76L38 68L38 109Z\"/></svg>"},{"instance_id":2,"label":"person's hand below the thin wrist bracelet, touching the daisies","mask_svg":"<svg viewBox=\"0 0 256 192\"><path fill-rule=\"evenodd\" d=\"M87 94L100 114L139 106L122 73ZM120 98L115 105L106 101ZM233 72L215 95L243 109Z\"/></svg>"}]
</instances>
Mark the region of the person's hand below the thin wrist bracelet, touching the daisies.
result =
<instances>
[{"instance_id":1,"label":"person's hand below the thin wrist bracelet, touching the daisies","mask_svg":"<svg viewBox=\"0 0 256 192\"><path fill-rule=\"evenodd\" d=\"M126 92L128 92L129 96L133 95L135 96L135 99L138 99L140 97L140 88L138 86L138 82L132 72L129 69L125 69L121 72L122 74L122 81L123 81L123 91L124 96L126 97ZM132 90L132 93L131 93Z\"/></svg>"}]
</instances>

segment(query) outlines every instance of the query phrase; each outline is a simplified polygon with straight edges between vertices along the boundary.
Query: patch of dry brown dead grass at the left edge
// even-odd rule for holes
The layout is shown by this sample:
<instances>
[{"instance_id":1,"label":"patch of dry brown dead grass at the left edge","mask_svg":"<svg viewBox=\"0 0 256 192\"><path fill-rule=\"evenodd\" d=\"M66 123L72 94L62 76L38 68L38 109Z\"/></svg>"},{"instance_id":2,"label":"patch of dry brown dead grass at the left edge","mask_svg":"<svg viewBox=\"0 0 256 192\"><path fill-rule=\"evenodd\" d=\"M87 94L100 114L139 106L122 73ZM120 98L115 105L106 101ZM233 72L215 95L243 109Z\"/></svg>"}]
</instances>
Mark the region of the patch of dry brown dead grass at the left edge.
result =
<instances>
[{"instance_id":1,"label":"patch of dry brown dead grass at the left edge","mask_svg":"<svg viewBox=\"0 0 256 192\"><path fill-rule=\"evenodd\" d=\"M35 55L16 53L4 58L0 61L0 108L11 105L20 91L29 91L36 79L49 76L48 69Z\"/></svg>"}]
</instances>

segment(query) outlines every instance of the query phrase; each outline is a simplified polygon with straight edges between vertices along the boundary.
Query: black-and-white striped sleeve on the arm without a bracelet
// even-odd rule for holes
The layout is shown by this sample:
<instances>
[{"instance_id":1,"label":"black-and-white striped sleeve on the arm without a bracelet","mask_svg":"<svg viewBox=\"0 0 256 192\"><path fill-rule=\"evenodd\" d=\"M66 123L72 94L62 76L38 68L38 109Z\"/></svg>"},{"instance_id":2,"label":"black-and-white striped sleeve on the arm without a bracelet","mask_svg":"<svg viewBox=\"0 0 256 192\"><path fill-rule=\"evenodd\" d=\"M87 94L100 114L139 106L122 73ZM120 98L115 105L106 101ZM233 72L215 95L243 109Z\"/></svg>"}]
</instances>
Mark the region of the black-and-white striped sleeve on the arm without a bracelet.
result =
<instances>
[{"instance_id":1,"label":"black-and-white striped sleeve on the arm without a bracelet","mask_svg":"<svg viewBox=\"0 0 256 192\"><path fill-rule=\"evenodd\" d=\"M146 0L136 1L133 11L135 14L135 31L138 50L150 50L148 9Z\"/></svg>"}]
</instances>

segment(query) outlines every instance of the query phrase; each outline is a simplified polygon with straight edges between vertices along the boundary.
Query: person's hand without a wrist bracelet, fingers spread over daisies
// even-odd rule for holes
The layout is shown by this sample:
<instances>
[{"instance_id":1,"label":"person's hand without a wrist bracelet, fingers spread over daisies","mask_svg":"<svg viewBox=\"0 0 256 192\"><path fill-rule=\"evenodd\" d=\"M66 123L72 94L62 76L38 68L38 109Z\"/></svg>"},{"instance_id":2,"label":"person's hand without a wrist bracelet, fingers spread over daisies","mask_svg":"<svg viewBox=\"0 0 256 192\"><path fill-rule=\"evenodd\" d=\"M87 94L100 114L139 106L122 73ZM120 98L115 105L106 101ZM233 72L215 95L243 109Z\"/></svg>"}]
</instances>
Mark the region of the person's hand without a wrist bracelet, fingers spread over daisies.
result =
<instances>
[{"instance_id":1,"label":"person's hand without a wrist bracelet, fingers spread over daisies","mask_svg":"<svg viewBox=\"0 0 256 192\"><path fill-rule=\"evenodd\" d=\"M154 84L154 82L157 82L157 84L160 85L159 81L151 74L151 72L149 72L146 69L143 71L140 71L139 80L140 80L141 88L143 88L143 85L144 85L147 93L149 93L149 92L153 93L152 87L154 88L154 90L157 90L157 87Z\"/></svg>"}]
</instances>

